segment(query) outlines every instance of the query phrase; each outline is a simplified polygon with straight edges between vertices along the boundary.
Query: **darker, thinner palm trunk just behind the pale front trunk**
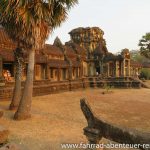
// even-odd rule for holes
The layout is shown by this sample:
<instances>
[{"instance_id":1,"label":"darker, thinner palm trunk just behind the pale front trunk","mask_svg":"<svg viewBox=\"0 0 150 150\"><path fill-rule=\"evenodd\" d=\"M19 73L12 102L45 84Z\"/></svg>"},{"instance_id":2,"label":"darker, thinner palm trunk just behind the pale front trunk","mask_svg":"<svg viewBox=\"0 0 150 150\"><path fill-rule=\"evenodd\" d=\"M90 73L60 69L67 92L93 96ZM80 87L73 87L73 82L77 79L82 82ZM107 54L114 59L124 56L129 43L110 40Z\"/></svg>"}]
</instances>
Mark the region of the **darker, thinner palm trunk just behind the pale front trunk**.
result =
<instances>
[{"instance_id":1,"label":"darker, thinner palm trunk just behind the pale front trunk","mask_svg":"<svg viewBox=\"0 0 150 150\"><path fill-rule=\"evenodd\" d=\"M15 65L16 65L16 74L15 74L15 86L13 90L13 97L9 110L15 110L19 106L21 98L21 77L22 77L22 68L23 68L23 53L22 50L17 48L14 52Z\"/></svg>"}]
</instances>

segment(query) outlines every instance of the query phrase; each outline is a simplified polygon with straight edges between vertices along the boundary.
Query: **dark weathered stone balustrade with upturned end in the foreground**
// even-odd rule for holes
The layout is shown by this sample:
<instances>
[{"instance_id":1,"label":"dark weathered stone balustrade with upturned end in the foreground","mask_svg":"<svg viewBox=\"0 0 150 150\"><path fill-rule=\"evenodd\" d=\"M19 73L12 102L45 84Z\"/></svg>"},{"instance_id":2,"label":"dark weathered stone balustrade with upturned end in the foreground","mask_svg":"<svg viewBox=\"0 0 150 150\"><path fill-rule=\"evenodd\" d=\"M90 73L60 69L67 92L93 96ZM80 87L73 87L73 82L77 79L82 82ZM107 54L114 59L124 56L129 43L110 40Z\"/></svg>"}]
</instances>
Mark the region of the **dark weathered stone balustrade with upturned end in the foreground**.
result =
<instances>
[{"instance_id":1,"label":"dark weathered stone balustrade with upturned end in the foreground","mask_svg":"<svg viewBox=\"0 0 150 150\"><path fill-rule=\"evenodd\" d=\"M83 130L89 144L98 144L104 137L121 144L139 144L140 149L150 150L150 148L144 147L145 144L150 144L150 133L119 127L95 117L85 99L81 99L80 106L88 123Z\"/></svg>"}]
</instances>

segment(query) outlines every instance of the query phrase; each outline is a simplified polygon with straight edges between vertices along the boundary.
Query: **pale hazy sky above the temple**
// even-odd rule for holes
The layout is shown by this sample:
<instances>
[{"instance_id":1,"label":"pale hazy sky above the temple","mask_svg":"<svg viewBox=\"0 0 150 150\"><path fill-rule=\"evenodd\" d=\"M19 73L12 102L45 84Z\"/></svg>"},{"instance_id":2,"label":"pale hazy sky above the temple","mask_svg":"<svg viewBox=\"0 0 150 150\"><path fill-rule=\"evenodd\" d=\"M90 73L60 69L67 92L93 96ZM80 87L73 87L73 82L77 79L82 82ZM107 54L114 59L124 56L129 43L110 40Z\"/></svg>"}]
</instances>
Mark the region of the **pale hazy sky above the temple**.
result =
<instances>
[{"instance_id":1,"label":"pale hazy sky above the temple","mask_svg":"<svg viewBox=\"0 0 150 150\"><path fill-rule=\"evenodd\" d=\"M58 36L63 43L78 27L97 26L104 31L110 52L138 49L141 37L150 32L150 0L79 0L68 12L67 20L49 36L52 44Z\"/></svg>"}]
</instances>

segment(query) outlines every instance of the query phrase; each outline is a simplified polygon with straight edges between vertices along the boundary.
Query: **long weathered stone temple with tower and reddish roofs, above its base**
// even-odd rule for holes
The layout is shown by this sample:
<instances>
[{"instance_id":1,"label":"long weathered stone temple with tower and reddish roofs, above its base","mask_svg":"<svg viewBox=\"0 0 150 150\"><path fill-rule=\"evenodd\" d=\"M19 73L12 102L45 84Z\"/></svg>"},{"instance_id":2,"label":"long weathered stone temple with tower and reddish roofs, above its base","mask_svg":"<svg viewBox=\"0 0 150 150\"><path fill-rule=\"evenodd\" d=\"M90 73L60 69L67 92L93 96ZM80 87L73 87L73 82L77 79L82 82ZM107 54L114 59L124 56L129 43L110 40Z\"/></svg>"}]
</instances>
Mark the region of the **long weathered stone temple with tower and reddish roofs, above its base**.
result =
<instances>
[{"instance_id":1,"label":"long weathered stone temple with tower and reddish roofs, above its base","mask_svg":"<svg viewBox=\"0 0 150 150\"><path fill-rule=\"evenodd\" d=\"M62 44L57 37L52 45L45 44L36 51L35 80L65 81L83 77L126 77L134 76L141 66L130 61L128 49L114 55L107 50L104 32L98 27L76 28L70 34L70 41ZM15 63L13 51L16 44L0 27L0 78L8 70L14 80ZM28 55L22 80L26 78Z\"/></svg>"}]
</instances>

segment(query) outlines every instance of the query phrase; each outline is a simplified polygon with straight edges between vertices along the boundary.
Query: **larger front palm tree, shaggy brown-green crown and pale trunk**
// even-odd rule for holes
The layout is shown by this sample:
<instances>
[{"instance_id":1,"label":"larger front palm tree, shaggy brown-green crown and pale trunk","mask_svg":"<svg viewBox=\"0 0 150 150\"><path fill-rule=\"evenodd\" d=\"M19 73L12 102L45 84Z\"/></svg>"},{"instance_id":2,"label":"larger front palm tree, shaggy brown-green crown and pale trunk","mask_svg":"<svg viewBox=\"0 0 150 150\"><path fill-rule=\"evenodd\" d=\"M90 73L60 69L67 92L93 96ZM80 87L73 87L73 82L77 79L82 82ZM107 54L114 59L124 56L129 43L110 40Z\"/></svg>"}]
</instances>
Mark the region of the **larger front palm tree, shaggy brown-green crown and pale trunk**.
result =
<instances>
[{"instance_id":1,"label":"larger front palm tree, shaggy brown-green crown and pale trunk","mask_svg":"<svg viewBox=\"0 0 150 150\"><path fill-rule=\"evenodd\" d=\"M13 18L13 27L29 53L27 79L21 101L14 118L22 120L31 116L35 50L42 48L50 31L67 17L68 10L77 0L1 0L3 17ZM9 16L9 17L7 17Z\"/></svg>"}]
</instances>

